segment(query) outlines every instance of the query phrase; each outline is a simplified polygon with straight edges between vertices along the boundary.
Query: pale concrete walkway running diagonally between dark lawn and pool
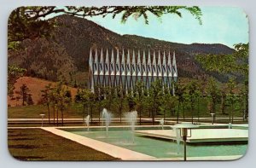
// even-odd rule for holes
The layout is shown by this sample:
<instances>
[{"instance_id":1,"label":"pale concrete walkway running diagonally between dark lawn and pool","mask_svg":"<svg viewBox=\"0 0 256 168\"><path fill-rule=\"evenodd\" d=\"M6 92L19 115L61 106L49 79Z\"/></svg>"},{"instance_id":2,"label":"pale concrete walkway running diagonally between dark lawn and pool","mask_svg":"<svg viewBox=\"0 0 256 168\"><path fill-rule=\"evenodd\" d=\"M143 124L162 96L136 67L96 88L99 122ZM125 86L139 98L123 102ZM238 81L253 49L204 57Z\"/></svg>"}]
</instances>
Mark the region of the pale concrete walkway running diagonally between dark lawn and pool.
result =
<instances>
[{"instance_id":1,"label":"pale concrete walkway running diagonally between dark lawn and pool","mask_svg":"<svg viewBox=\"0 0 256 168\"><path fill-rule=\"evenodd\" d=\"M147 154L141 154L134 151L131 151L126 148L120 148L105 142L96 141L93 139L90 139L88 137L75 135L73 133L64 131L64 130L58 130L53 127L42 127L43 130L47 130L57 136L65 137L69 140L72 140L73 142L78 142L84 146L94 148L97 151L100 151L105 154L109 154L115 158L124 159L124 160L152 160L156 159L153 156L149 156Z\"/></svg>"}]
</instances>

